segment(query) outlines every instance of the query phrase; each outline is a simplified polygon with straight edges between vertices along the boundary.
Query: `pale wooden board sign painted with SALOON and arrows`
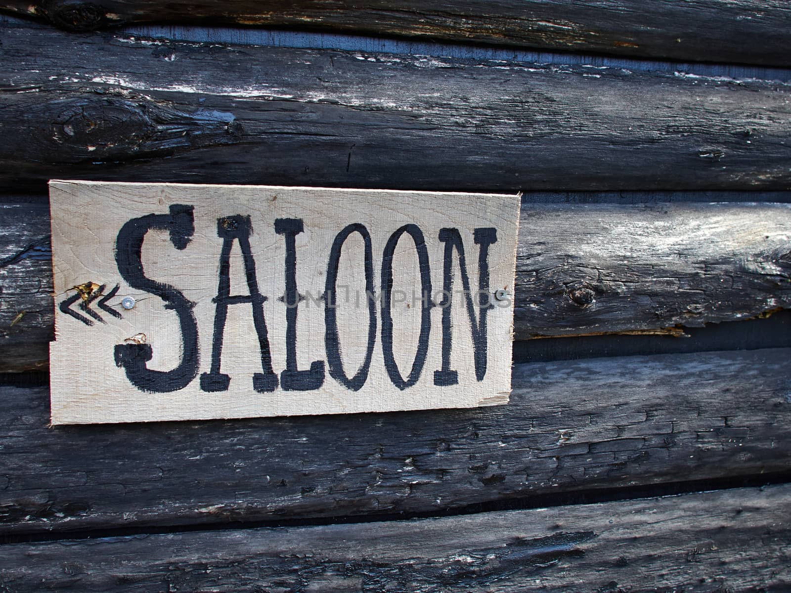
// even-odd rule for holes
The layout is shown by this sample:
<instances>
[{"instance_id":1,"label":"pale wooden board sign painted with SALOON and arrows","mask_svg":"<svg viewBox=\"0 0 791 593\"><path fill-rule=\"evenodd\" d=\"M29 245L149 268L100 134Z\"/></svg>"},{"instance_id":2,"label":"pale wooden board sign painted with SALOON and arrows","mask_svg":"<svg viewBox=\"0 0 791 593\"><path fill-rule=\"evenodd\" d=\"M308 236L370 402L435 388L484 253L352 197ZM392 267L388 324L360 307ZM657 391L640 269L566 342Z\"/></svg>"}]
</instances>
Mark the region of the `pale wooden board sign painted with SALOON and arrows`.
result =
<instances>
[{"instance_id":1,"label":"pale wooden board sign painted with SALOON and arrows","mask_svg":"<svg viewBox=\"0 0 791 593\"><path fill-rule=\"evenodd\" d=\"M50 183L53 424L492 406L519 199Z\"/></svg>"}]
</instances>

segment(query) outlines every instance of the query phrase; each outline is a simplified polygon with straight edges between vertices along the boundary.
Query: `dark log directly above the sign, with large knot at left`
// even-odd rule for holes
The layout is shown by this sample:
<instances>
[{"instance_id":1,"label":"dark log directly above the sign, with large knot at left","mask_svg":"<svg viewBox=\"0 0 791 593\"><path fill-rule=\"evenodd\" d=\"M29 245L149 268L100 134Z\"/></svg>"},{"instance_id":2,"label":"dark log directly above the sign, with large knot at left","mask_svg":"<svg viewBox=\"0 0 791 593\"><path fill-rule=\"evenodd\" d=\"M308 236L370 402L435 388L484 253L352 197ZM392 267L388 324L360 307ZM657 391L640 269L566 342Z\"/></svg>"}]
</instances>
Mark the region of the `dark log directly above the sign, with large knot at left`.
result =
<instances>
[{"instance_id":1,"label":"dark log directly above the sign, with large knot at left","mask_svg":"<svg viewBox=\"0 0 791 593\"><path fill-rule=\"evenodd\" d=\"M0 30L0 181L785 189L791 86Z\"/></svg>"}]
</instances>

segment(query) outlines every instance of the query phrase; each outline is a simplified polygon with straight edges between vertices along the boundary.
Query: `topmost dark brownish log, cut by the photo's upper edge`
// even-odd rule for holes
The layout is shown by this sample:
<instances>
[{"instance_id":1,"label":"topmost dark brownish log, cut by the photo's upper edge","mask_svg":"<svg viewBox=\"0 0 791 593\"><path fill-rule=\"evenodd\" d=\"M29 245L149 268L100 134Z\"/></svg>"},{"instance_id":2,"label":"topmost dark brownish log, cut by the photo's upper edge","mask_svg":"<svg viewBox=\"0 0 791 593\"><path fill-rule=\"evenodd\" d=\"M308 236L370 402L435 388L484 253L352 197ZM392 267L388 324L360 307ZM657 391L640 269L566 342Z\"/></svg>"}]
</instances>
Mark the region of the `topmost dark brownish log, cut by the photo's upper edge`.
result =
<instances>
[{"instance_id":1,"label":"topmost dark brownish log, cut by the photo's upper edge","mask_svg":"<svg viewBox=\"0 0 791 593\"><path fill-rule=\"evenodd\" d=\"M709 62L791 63L791 9L778 0L6 0L0 8L70 31L152 21L267 25Z\"/></svg>"}]
</instances>

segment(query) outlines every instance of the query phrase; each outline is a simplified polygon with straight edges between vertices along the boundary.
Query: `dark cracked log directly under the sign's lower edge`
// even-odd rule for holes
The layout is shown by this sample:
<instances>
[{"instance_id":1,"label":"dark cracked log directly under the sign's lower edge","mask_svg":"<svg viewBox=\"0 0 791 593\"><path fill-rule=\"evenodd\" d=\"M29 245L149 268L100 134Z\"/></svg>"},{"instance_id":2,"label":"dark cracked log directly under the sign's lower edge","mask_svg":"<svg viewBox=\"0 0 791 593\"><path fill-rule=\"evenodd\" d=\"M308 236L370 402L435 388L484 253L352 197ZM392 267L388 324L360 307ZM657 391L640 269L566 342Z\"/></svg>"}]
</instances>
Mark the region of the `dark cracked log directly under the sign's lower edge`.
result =
<instances>
[{"instance_id":1,"label":"dark cracked log directly under the sign's lower edge","mask_svg":"<svg viewBox=\"0 0 791 593\"><path fill-rule=\"evenodd\" d=\"M75 353L78 357L78 352ZM788 349L519 364L478 410L47 428L2 387L4 533L432 512L791 468Z\"/></svg>"}]
</instances>

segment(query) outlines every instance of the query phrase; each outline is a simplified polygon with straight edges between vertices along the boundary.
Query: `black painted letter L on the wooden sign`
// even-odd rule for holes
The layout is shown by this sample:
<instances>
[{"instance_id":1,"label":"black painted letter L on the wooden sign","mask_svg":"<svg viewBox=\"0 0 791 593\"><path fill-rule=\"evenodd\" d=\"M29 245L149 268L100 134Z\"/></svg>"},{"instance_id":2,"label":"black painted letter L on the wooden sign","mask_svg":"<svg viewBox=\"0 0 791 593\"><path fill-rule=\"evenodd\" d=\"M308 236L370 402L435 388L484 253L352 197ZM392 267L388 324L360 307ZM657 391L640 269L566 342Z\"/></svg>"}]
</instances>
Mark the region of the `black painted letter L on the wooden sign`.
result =
<instances>
[{"instance_id":1,"label":"black painted letter L on the wooden sign","mask_svg":"<svg viewBox=\"0 0 791 593\"><path fill-rule=\"evenodd\" d=\"M301 218L277 218L274 232L286 239L286 370L280 373L280 386L286 391L310 391L324 383L324 361L313 361L310 370L297 368L297 308L305 300L297 291L297 240L303 230Z\"/></svg>"}]
</instances>

